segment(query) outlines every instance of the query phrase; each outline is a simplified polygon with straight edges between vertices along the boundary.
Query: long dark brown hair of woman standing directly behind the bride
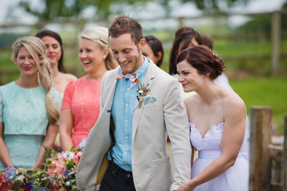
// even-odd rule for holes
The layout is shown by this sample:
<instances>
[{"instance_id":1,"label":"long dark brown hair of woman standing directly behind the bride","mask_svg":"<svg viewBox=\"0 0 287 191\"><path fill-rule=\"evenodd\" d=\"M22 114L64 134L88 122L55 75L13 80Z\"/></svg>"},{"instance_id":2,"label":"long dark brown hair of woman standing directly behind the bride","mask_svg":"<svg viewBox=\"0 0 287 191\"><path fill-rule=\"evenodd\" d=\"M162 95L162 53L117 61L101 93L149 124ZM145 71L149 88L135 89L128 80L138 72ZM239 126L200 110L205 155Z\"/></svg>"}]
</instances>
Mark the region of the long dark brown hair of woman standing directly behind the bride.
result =
<instances>
[{"instance_id":1,"label":"long dark brown hair of woman standing directly behind the bride","mask_svg":"<svg viewBox=\"0 0 287 191\"><path fill-rule=\"evenodd\" d=\"M170 50L170 68L169 74L176 74L176 64L175 60L179 52L188 48L188 45L191 43L191 39L195 38L199 45L202 45L202 38L199 33L194 30L192 27L180 27L175 32L175 37L172 42L172 48ZM181 47L179 44L182 42ZM178 52L179 50L179 52Z\"/></svg>"}]
</instances>

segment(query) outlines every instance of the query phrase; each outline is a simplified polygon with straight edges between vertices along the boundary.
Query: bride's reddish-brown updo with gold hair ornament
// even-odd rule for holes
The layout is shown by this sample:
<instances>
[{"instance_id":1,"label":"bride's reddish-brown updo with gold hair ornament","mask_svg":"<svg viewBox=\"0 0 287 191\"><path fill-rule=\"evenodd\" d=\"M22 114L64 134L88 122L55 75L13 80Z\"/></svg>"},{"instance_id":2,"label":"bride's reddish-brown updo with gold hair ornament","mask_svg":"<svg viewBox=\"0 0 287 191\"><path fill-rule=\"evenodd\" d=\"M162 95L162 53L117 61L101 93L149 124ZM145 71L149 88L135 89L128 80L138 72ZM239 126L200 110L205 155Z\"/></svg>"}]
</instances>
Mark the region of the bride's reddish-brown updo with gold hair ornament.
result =
<instances>
[{"instance_id":1,"label":"bride's reddish-brown updo with gold hair ornament","mask_svg":"<svg viewBox=\"0 0 287 191\"><path fill-rule=\"evenodd\" d=\"M199 74L207 75L211 80L222 74L225 64L216 53L213 53L207 46L197 45L187 48L178 55L176 64L187 61Z\"/></svg>"}]
</instances>

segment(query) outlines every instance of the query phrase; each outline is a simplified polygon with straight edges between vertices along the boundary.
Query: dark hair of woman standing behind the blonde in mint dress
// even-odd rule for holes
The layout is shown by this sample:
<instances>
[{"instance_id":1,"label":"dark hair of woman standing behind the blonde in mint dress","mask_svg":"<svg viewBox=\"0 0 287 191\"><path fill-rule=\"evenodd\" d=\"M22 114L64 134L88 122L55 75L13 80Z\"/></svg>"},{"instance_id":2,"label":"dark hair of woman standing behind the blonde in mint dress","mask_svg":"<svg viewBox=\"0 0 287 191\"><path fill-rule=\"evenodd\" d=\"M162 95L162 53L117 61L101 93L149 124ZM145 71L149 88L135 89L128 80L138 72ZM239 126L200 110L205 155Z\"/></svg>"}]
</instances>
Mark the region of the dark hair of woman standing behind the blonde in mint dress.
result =
<instances>
[{"instance_id":1,"label":"dark hair of woman standing behind the blonde in mint dress","mask_svg":"<svg viewBox=\"0 0 287 191\"><path fill-rule=\"evenodd\" d=\"M58 33L55 33L51 30L47 30L47 29L43 29L41 31L39 31L37 34L36 34L36 37L42 39L44 36L51 36L53 38L55 38L59 44L60 44L60 47L61 47L61 51L62 51L62 54L61 54L61 57L58 61L58 70L62 73L65 73L66 70L65 70L65 67L64 67L64 64L63 64L63 58L64 58L64 51L63 51L63 48L62 48L62 38L60 37L60 35Z\"/></svg>"}]
</instances>

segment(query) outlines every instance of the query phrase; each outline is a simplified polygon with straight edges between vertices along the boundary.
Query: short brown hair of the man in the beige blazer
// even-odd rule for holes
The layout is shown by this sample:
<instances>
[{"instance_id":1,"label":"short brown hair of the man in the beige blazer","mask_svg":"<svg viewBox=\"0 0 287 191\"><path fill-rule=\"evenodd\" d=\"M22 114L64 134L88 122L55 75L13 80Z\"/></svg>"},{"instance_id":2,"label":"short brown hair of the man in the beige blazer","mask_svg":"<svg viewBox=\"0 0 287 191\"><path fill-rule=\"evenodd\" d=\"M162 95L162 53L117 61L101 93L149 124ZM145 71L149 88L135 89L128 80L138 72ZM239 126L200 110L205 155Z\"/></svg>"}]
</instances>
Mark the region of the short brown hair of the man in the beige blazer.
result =
<instances>
[{"instance_id":1,"label":"short brown hair of the man in the beige blazer","mask_svg":"<svg viewBox=\"0 0 287 191\"><path fill-rule=\"evenodd\" d=\"M141 27L141 25L138 23L138 21L129 16L116 16L109 26L109 37L112 36L114 38L117 38L125 33L131 34L132 40L138 47L138 43L143 38L143 28Z\"/></svg>"}]
</instances>

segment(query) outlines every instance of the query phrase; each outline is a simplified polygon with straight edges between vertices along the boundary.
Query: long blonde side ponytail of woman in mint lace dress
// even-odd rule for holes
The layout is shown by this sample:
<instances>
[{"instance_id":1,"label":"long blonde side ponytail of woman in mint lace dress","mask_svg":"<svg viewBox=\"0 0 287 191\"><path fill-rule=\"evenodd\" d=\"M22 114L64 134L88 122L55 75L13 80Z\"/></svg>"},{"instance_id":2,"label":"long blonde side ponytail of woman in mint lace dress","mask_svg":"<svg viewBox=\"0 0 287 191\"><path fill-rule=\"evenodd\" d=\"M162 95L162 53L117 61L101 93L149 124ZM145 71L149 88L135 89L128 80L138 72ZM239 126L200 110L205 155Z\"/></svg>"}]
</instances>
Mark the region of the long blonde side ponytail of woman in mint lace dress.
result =
<instances>
[{"instance_id":1,"label":"long blonde side ponytail of woman in mint lace dress","mask_svg":"<svg viewBox=\"0 0 287 191\"><path fill-rule=\"evenodd\" d=\"M50 95L50 89L52 87L52 70L50 62L46 57L45 44L40 38L33 36L19 38L12 45L13 58L17 58L18 52L22 47L26 48L36 63L41 86L46 91L45 105L48 114L48 121L51 124L56 124L56 122L59 120L60 114L52 96ZM43 60L42 63L40 63L41 60Z\"/></svg>"}]
</instances>

